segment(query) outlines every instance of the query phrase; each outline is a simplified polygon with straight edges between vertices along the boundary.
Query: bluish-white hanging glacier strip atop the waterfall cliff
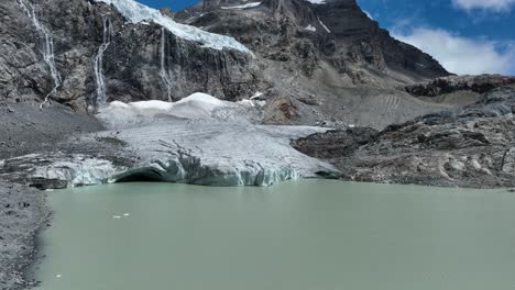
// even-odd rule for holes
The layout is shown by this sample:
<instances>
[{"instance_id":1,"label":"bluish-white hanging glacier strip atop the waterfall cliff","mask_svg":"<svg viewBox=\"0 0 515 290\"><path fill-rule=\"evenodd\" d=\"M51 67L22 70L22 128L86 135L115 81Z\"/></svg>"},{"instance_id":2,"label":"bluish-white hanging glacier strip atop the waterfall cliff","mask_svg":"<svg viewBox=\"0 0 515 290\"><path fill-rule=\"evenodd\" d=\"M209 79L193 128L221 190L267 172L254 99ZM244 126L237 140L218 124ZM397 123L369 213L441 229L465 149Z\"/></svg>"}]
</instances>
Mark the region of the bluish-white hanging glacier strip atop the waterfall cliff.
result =
<instances>
[{"instance_id":1,"label":"bluish-white hanging glacier strip atop the waterfall cliff","mask_svg":"<svg viewBox=\"0 0 515 290\"><path fill-rule=\"evenodd\" d=\"M151 21L183 40L198 42L205 47L220 51L223 48L230 48L253 55L249 48L235 41L233 37L209 33L190 25L177 23L171 18L161 14L158 10L141 4L134 0L95 1L113 5L130 23Z\"/></svg>"}]
</instances>

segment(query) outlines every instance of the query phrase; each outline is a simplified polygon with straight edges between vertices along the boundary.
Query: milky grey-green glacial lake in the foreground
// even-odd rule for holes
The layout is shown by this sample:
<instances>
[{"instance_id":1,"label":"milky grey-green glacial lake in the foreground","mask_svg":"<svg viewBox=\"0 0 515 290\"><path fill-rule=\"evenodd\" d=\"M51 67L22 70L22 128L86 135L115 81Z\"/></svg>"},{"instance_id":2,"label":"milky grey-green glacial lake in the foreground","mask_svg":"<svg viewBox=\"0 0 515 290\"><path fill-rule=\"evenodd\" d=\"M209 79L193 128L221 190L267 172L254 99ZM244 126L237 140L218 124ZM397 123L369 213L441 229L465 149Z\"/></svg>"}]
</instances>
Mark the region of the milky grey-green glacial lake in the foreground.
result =
<instances>
[{"instance_id":1,"label":"milky grey-green glacial lake in the foreground","mask_svg":"<svg viewBox=\"0 0 515 290\"><path fill-rule=\"evenodd\" d=\"M39 290L515 289L515 194L303 180L50 192Z\"/></svg>"}]
</instances>

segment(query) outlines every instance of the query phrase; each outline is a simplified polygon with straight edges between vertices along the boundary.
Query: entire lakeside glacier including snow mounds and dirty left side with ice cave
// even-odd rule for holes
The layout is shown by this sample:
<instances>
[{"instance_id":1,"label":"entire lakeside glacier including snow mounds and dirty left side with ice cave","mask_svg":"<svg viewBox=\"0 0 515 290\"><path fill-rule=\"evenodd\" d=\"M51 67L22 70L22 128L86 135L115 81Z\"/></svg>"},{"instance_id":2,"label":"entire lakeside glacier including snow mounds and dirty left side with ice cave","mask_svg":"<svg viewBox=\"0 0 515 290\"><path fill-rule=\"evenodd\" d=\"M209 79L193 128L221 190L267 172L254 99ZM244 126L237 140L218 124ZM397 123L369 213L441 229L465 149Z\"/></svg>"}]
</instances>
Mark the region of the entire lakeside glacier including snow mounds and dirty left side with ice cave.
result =
<instances>
[{"instance_id":1,"label":"entire lakeside glacier including snow mounds and dirty left side with ice cave","mask_svg":"<svg viewBox=\"0 0 515 290\"><path fill-rule=\"evenodd\" d=\"M68 141L65 147L83 148L78 153L0 160L0 178L18 176L46 188L147 180L238 187L337 172L291 146L328 129L255 124L260 110L200 92L177 102L114 101L96 114L106 131Z\"/></svg>"}]
</instances>

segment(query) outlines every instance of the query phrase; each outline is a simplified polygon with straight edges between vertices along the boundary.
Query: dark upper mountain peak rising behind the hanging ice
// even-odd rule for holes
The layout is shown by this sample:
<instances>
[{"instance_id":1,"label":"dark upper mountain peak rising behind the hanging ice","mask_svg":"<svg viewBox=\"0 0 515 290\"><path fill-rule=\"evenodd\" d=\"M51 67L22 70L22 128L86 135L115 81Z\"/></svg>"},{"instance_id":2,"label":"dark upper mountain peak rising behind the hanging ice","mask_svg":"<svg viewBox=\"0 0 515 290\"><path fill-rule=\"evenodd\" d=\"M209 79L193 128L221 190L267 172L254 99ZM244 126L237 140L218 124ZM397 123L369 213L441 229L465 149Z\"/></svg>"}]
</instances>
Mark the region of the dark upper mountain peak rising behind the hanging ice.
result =
<instances>
[{"instance_id":1,"label":"dark upper mountain peak rising behind the hanging ice","mask_svg":"<svg viewBox=\"0 0 515 290\"><path fill-rule=\"evenodd\" d=\"M352 83L413 82L449 75L432 57L401 43L369 19L354 0L205 0L178 21L228 34L263 58L313 76L328 64Z\"/></svg>"}]
</instances>

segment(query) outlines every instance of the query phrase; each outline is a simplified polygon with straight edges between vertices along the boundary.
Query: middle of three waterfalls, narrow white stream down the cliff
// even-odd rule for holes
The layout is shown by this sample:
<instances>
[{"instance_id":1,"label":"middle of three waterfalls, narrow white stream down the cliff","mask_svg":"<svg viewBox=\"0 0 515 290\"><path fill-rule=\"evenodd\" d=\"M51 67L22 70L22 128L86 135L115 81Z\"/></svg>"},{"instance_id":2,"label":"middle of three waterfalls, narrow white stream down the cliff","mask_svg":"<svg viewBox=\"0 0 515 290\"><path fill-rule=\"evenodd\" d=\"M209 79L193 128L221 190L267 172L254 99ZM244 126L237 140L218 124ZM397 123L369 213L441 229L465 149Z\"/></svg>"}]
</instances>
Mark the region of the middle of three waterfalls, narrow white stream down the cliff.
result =
<instances>
[{"instance_id":1,"label":"middle of three waterfalls, narrow white stream down the cliff","mask_svg":"<svg viewBox=\"0 0 515 290\"><path fill-rule=\"evenodd\" d=\"M95 56L95 80L97 82L97 108L106 105L106 79L103 77L103 53L111 43L112 25L110 19L103 20L103 41Z\"/></svg>"}]
</instances>

